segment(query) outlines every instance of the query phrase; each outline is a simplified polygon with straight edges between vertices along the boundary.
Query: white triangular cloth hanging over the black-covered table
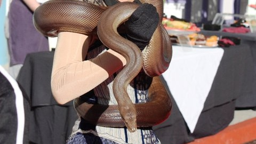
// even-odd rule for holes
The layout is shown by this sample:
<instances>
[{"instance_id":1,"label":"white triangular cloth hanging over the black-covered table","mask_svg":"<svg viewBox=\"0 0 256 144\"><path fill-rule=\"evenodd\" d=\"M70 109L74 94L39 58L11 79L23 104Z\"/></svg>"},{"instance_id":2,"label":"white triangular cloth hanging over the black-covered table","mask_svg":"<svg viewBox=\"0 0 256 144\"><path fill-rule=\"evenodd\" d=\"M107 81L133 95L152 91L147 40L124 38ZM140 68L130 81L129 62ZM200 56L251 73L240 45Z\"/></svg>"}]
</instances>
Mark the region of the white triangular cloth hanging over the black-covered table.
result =
<instances>
[{"instance_id":1,"label":"white triangular cloth hanging over the black-covered table","mask_svg":"<svg viewBox=\"0 0 256 144\"><path fill-rule=\"evenodd\" d=\"M173 46L173 57L163 77L191 133L217 73L223 49Z\"/></svg>"}]
</instances>

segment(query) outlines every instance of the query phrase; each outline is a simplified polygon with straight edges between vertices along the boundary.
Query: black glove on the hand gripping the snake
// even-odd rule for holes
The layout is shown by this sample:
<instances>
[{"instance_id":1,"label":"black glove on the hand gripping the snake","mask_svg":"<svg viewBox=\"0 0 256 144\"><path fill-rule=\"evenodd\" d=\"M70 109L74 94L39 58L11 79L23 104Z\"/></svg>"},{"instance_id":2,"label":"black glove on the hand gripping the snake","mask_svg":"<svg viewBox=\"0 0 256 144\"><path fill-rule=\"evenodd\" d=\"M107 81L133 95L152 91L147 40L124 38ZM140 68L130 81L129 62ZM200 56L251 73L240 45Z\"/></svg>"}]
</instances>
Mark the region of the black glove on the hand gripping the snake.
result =
<instances>
[{"instance_id":1,"label":"black glove on the hand gripping the snake","mask_svg":"<svg viewBox=\"0 0 256 144\"><path fill-rule=\"evenodd\" d=\"M142 51L148 45L159 22L156 7L143 3L124 23L126 38L135 43Z\"/></svg>"}]
</instances>

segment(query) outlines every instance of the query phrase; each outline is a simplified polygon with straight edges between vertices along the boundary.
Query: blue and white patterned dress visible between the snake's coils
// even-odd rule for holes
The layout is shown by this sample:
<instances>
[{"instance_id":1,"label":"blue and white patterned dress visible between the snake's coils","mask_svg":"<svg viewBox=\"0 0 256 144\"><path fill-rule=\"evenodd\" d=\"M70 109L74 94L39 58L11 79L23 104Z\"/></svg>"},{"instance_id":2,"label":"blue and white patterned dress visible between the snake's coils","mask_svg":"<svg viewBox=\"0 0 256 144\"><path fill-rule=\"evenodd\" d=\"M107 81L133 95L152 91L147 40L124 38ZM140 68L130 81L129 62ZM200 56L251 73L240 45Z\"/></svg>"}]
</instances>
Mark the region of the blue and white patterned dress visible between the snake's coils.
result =
<instances>
[{"instance_id":1,"label":"blue and white patterned dress visible between the snake's coils","mask_svg":"<svg viewBox=\"0 0 256 144\"><path fill-rule=\"evenodd\" d=\"M92 47L87 53L87 59L97 57L97 55L106 51L107 48L103 45ZM112 85L115 75L110 76L106 81L93 89L93 94L97 99L97 103L103 105L117 105L115 100ZM133 103L141 103L148 101L148 87L152 78L145 73L140 73L127 87L127 92L130 95ZM92 102L92 101L91 101ZM143 127L136 132L129 132L126 127L103 127L86 123L82 118L78 118L73 133L71 134L68 143L161 143L156 138L152 127Z\"/></svg>"}]
</instances>

